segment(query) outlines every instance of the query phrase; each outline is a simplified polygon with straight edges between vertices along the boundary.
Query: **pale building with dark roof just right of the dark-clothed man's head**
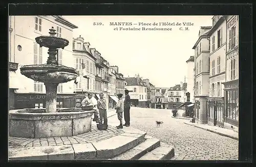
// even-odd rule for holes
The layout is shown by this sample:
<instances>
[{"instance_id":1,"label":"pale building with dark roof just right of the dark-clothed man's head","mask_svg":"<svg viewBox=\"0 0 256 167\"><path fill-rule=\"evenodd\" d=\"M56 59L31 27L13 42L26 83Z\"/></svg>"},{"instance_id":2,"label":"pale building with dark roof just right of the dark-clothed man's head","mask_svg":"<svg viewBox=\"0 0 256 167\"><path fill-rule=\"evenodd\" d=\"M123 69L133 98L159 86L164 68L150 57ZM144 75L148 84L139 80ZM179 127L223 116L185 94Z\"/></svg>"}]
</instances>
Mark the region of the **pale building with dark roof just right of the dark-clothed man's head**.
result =
<instances>
[{"instance_id":1,"label":"pale building with dark roof just right of the dark-clothed man's head","mask_svg":"<svg viewBox=\"0 0 256 167\"><path fill-rule=\"evenodd\" d=\"M135 77L126 77L125 89L129 90L131 103L133 106L146 107L147 101L147 87L146 83L140 78L139 75Z\"/></svg>"}]
</instances>

